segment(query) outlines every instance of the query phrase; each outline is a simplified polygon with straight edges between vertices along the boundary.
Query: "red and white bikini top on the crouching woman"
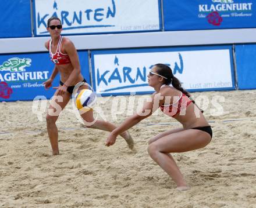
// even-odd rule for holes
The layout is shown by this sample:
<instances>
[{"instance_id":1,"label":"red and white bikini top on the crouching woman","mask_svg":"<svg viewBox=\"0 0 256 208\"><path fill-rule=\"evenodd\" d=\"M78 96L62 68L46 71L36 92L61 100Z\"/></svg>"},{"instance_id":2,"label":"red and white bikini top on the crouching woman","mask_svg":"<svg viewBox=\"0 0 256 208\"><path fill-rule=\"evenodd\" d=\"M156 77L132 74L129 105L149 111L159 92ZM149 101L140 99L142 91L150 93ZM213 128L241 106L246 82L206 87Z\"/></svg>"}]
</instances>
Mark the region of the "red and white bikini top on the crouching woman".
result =
<instances>
[{"instance_id":1,"label":"red and white bikini top on the crouching woman","mask_svg":"<svg viewBox=\"0 0 256 208\"><path fill-rule=\"evenodd\" d=\"M162 85L162 87L171 87L169 85ZM161 89L160 88L160 89ZM165 99L165 102L168 101ZM193 103L192 100L190 100L189 97L186 96L186 94L180 92L180 96L174 96L173 97L173 103L172 104L166 104L166 105L160 105L161 111L168 115L168 116L175 116L181 112L185 115L187 106Z\"/></svg>"}]
</instances>

